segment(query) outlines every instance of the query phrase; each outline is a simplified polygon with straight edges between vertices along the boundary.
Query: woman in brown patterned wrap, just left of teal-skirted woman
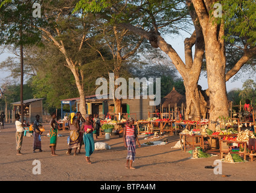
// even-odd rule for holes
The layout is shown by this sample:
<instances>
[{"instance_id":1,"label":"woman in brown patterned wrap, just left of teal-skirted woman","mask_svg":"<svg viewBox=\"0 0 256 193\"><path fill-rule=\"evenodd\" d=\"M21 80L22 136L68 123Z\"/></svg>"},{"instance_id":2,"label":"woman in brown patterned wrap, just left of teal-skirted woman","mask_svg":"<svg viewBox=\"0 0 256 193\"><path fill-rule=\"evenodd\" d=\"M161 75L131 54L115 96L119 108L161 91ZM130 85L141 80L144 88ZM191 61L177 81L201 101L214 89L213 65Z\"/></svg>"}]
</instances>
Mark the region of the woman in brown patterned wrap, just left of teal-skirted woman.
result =
<instances>
[{"instance_id":1,"label":"woman in brown patterned wrap, just left of teal-skirted woman","mask_svg":"<svg viewBox=\"0 0 256 193\"><path fill-rule=\"evenodd\" d=\"M80 116L71 116L72 119L70 132L69 132L69 148L66 154L70 155L72 149L74 149L74 156L77 155L77 148L80 146L79 131L80 131Z\"/></svg>"}]
</instances>

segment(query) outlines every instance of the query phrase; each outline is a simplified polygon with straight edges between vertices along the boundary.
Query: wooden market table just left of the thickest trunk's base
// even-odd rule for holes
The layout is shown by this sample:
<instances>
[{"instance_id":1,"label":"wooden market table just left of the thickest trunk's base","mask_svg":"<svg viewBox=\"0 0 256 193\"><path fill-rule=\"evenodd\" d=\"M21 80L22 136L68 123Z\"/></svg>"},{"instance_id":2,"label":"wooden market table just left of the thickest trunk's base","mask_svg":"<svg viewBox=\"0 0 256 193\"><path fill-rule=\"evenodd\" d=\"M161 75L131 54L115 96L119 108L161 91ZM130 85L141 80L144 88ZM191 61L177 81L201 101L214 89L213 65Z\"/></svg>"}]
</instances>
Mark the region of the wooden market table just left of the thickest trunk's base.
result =
<instances>
[{"instance_id":1,"label":"wooden market table just left of the thickest trunk's base","mask_svg":"<svg viewBox=\"0 0 256 193\"><path fill-rule=\"evenodd\" d=\"M204 149L203 144L203 136L202 135L190 135L190 134L182 134L179 133L179 140L181 141L181 150L186 151L186 147L202 147ZM183 147L182 147L183 145Z\"/></svg>"}]
</instances>

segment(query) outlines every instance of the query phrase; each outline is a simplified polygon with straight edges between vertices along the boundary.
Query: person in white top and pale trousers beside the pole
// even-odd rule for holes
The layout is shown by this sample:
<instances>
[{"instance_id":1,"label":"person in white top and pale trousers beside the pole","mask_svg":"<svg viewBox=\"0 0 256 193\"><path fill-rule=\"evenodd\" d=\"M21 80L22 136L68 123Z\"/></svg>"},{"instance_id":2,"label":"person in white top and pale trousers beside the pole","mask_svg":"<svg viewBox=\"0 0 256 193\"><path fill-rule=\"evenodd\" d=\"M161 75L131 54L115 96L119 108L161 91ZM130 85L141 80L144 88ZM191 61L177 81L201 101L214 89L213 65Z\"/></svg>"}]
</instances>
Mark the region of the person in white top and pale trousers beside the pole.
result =
<instances>
[{"instance_id":1,"label":"person in white top and pale trousers beside the pole","mask_svg":"<svg viewBox=\"0 0 256 193\"><path fill-rule=\"evenodd\" d=\"M21 153L21 147L23 142L23 136L24 136L24 125L21 121L19 121L20 116L19 114L16 114L14 116L15 118L15 125L16 125L16 155L20 156Z\"/></svg>"}]
</instances>

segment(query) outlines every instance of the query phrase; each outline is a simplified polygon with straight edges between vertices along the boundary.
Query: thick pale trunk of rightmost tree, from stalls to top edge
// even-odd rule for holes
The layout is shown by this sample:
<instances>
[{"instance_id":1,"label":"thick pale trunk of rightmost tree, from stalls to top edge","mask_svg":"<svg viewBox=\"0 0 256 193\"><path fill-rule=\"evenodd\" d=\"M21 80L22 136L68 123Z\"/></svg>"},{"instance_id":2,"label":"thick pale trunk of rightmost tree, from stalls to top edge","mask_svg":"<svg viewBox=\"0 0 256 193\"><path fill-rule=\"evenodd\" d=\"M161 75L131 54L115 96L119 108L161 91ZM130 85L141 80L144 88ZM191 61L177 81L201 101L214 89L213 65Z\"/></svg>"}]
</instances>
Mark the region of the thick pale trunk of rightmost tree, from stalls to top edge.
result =
<instances>
[{"instance_id":1,"label":"thick pale trunk of rightmost tree, from stalls to top edge","mask_svg":"<svg viewBox=\"0 0 256 193\"><path fill-rule=\"evenodd\" d=\"M228 117L228 98L225 78L225 43L222 38L224 25L213 22L211 5L216 1L193 0L205 40L206 70L210 93L210 124L215 130L219 116Z\"/></svg>"}]
</instances>

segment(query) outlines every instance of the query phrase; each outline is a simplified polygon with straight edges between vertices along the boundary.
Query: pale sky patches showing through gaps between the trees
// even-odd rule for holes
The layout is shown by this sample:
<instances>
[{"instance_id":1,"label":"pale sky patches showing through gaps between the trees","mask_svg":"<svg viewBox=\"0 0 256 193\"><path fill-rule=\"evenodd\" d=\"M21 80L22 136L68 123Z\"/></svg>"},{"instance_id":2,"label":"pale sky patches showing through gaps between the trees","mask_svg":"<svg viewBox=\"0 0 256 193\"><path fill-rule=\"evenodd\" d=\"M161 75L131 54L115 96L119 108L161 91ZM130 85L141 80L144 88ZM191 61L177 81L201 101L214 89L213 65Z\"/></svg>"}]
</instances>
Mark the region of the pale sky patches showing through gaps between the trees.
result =
<instances>
[{"instance_id":1,"label":"pale sky patches showing through gaps between the trees","mask_svg":"<svg viewBox=\"0 0 256 193\"><path fill-rule=\"evenodd\" d=\"M180 55L181 59L184 61L185 57L184 57L184 39L186 37L189 37L188 34L184 34L182 33L182 36L177 36L177 37L165 37L165 40L170 43L173 48L176 50L176 52L178 52L178 54ZM0 63L2 61L4 61L5 59L7 59L8 56L11 56L11 54L8 53L3 53L0 55ZM2 83L4 83L5 78L10 74L9 71L4 71L2 69L0 69L0 86ZM242 80L237 80L237 81L232 81L234 78L231 78L231 80L229 80L226 83L226 90L232 90L232 89L242 89L243 86L243 81ZM199 83L200 86L202 86L202 89L208 89L208 83L207 83L207 79L205 78L204 75L200 75L199 78Z\"/></svg>"}]
</instances>

